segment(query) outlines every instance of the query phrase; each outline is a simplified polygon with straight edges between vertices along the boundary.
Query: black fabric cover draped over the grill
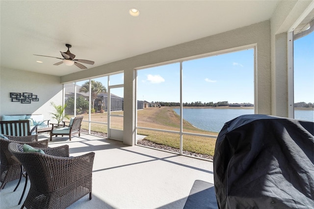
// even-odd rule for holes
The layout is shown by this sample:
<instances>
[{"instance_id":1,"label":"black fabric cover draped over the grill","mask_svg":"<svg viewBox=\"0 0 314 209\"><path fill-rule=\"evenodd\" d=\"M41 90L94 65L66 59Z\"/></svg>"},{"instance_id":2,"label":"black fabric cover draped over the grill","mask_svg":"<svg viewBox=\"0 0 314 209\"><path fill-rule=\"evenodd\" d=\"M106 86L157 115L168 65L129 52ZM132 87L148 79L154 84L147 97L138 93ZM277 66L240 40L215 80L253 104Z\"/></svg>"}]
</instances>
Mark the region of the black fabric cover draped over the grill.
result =
<instances>
[{"instance_id":1,"label":"black fabric cover draped over the grill","mask_svg":"<svg viewBox=\"0 0 314 209\"><path fill-rule=\"evenodd\" d=\"M214 186L220 209L314 209L314 123L242 115L219 132Z\"/></svg>"}]
</instances>

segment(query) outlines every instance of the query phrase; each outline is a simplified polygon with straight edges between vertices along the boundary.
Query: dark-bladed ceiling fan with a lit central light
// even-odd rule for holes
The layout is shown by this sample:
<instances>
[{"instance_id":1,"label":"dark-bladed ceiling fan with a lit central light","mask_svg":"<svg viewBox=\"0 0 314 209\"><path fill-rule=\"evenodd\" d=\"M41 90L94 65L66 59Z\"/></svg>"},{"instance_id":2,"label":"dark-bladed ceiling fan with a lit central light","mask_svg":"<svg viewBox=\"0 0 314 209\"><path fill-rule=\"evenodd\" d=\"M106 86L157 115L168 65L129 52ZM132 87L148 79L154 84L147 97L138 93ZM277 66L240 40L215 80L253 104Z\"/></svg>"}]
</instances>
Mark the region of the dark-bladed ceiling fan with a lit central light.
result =
<instances>
[{"instance_id":1,"label":"dark-bladed ceiling fan with a lit central light","mask_svg":"<svg viewBox=\"0 0 314 209\"><path fill-rule=\"evenodd\" d=\"M90 61L90 60L86 60L86 59L74 59L75 58L75 54L70 52L70 48L72 47L70 44L65 44L65 46L68 48L68 51L66 52L61 52L61 55L63 56L63 58L59 58L59 57L54 57L54 56L47 56L47 57L52 57L52 58L57 58L57 59L62 59L61 62L57 62L54 63L53 65L60 65L62 63L64 63L65 65L71 66L73 64L75 64L76 66L78 66L80 69L87 69L87 67L85 67L84 65L78 63L85 63L85 64L90 64L93 65L95 62L94 61ZM33 54L36 56L45 56L45 55L38 55L38 54Z\"/></svg>"}]
</instances>

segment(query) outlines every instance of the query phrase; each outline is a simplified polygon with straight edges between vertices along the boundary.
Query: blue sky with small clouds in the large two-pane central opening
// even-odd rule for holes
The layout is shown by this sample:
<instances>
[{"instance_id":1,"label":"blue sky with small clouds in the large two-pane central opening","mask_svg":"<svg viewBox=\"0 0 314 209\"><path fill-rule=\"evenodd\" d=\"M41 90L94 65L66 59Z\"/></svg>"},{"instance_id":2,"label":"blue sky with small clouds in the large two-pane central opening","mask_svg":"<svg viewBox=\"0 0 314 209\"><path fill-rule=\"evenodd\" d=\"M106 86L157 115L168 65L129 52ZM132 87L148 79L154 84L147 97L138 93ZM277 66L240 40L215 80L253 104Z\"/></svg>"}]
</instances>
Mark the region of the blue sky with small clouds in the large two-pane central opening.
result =
<instances>
[{"instance_id":1,"label":"blue sky with small clouds in the large two-pane central opening","mask_svg":"<svg viewBox=\"0 0 314 209\"><path fill-rule=\"evenodd\" d=\"M253 103L253 60L250 49L184 61L183 103ZM180 63L140 70L137 78L139 99L180 102Z\"/></svg>"}]
</instances>

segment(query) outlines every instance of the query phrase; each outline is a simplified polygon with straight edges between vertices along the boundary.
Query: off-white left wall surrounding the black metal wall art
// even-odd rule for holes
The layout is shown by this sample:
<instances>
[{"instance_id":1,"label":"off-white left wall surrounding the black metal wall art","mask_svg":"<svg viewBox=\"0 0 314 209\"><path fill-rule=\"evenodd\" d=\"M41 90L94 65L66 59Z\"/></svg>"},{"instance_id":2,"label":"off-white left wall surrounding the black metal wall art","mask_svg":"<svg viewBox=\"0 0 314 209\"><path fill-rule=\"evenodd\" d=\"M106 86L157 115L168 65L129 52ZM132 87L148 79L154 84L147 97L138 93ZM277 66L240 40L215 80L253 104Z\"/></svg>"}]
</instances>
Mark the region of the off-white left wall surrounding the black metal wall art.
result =
<instances>
[{"instance_id":1,"label":"off-white left wall surrounding the black metal wall art","mask_svg":"<svg viewBox=\"0 0 314 209\"><path fill-rule=\"evenodd\" d=\"M62 104L62 90L60 77L1 68L0 115L43 114L44 119L51 119L49 113L53 109L50 102ZM33 93L37 95L39 101L30 104L11 102L10 92Z\"/></svg>"}]
</instances>

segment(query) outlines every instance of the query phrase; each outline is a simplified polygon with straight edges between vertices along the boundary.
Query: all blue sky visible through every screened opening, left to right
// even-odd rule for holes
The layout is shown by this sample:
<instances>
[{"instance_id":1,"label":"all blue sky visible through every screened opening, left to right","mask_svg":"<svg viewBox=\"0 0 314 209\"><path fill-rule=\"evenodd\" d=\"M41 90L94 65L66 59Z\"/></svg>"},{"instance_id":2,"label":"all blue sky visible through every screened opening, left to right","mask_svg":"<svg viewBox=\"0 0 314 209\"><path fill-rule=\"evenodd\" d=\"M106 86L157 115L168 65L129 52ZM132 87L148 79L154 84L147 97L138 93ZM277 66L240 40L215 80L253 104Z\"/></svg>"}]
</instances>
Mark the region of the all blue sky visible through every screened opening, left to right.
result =
<instances>
[{"instance_id":1,"label":"all blue sky visible through every screened opening, left to right","mask_svg":"<svg viewBox=\"0 0 314 209\"><path fill-rule=\"evenodd\" d=\"M295 102L314 102L313 60L314 32L294 41ZM107 77L95 80L107 87ZM111 85L122 83L123 74L110 76ZM111 93L123 97L121 89ZM137 99L180 102L180 63L139 70ZM222 101L254 104L253 49L183 62L183 103Z\"/></svg>"}]
</instances>

